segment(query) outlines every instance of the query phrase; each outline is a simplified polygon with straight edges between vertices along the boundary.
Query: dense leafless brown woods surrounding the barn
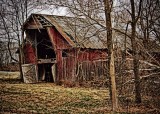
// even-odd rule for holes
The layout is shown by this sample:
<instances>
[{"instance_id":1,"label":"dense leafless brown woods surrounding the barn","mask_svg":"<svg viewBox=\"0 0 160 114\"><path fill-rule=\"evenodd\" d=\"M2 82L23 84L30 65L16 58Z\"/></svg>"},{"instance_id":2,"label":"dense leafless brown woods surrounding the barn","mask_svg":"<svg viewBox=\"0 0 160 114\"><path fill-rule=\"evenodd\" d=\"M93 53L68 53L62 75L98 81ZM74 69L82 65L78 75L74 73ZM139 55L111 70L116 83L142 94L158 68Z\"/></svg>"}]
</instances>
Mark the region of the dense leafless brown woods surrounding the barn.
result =
<instances>
[{"instance_id":1,"label":"dense leafless brown woods surrounding the barn","mask_svg":"<svg viewBox=\"0 0 160 114\"><path fill-rule=\"evenodd\" d=\"M52 15L62 9L63 16L74 17L73 37L76 39L77 33L82 33L79 43L92 40L107 47L107 63L102 67L107 66L103 75L109 80L112 111L143 104L147 99L157 109L160 106L156 102L160 100L159 6L159 0L1 0L0 69L18 63L23 80L25 20L31 13L45 11ZM86 26L77 21L80 18ZM68 26L73 24L67 21ZM93 31L92 27L97 29Z\"/></svg>"}]
</instances>

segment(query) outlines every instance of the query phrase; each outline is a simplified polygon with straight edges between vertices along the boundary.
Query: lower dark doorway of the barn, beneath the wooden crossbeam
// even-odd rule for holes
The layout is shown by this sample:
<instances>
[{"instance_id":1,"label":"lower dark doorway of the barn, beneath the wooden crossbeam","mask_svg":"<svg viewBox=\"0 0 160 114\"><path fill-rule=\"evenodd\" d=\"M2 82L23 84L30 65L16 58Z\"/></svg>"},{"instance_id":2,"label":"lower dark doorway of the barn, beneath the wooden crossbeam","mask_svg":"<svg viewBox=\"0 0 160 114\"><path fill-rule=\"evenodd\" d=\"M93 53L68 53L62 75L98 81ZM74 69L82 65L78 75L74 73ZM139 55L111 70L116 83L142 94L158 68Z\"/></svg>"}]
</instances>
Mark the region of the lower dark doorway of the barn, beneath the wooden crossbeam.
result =
<instances>
[{"instance_id":1,"label":"lower dark doorway of the barn, beneath the wooden crossbeam","mask_svg":"<svg viewBox=\"0 0 160 114\"><path fill-rule=\"evenodd\" d=\"M38 64L38 80L55 82L55 63Z\"/></svg>"}]
</instances>

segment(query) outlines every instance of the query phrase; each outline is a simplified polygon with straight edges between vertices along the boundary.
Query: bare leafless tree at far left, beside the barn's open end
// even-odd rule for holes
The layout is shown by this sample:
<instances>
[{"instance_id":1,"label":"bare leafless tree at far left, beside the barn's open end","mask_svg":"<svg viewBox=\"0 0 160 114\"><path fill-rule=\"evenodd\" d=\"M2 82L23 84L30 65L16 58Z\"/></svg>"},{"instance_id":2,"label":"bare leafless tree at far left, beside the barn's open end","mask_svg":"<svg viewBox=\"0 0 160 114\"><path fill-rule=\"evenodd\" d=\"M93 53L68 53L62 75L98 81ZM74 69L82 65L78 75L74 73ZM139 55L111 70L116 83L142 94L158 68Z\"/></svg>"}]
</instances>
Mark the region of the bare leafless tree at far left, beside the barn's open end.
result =
<instances>
[{"instance_id":1,"label":"bare leafless tree at far left, beside the barn's open end","mask_svg":"<svg viewBox=\"0 0 160 114\"><path fill-rule=\"evenodd\" d=\"M23 45L23 35L21 34L21 27L28 17L28 12L33 9L33 1L28 0L2 0L1 1L1 12L0 12L0 20L1 30L2 30L2 41L7 39L7 47L9 51L9 55L12 60L18 62L14 57L12 57L10 51L10 44L12 42L17 42L19 46L19 69L22 78L22 67L23 63L22 54L22 45Z\"/></svg>"}]
</instances>

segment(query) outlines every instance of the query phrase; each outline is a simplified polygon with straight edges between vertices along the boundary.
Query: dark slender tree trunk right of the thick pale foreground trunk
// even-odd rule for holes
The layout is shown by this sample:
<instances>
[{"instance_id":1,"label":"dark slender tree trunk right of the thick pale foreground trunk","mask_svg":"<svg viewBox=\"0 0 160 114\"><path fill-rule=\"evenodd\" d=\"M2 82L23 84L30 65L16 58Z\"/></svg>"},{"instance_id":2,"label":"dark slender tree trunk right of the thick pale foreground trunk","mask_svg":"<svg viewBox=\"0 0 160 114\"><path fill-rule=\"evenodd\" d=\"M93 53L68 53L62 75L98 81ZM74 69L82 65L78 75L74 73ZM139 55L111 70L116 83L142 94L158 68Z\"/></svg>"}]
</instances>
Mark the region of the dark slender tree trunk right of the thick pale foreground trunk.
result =
<instances>
[{"instance_id":1,"label":"dark slender tree trunk right of the thick pale foreground trunk","mask_svg":"<svg viewBox=\"0 0 160 114\"><path fill-rule=\"evenodd\" d=\"M131 26L132 26L132 33L131 33L131 44L132 44L132 51L133 51L133 71L135 77L135 102L141 103L141 88L140 88L140 76L139 76L139 55L137 50L137 43L136 43L136 17L135 17L135 6L134 0L130 0L131 3Z\"/></svg>"}]
</instances>

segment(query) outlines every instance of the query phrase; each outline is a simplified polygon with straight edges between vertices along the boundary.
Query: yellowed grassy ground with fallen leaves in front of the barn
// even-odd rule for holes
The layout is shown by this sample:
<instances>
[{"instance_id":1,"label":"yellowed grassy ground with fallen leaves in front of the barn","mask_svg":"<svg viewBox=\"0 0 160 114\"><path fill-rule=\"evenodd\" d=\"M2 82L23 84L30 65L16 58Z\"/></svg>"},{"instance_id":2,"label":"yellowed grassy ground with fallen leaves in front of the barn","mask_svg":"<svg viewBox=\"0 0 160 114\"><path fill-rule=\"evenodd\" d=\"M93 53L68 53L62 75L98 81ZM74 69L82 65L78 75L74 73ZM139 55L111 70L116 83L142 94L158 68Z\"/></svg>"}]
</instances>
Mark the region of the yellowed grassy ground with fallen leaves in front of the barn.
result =
<instances>
[{"instance_id":1,"label":"yellowed grassy ground with fallen leaves in front of the barn","mask_svg":"<svg viewBox=\"0 0 160 114\"><path fill-rule=\"evenodd\" d=\"M111 113L107 88L66 88L53 83L24 84L13 80L11 73L8 76L10 78L7 79L0 77L0 113ZM160 111L146 101L140 105L120 105L119 113L158 114Z\"/></svg>"}]
</instances>

